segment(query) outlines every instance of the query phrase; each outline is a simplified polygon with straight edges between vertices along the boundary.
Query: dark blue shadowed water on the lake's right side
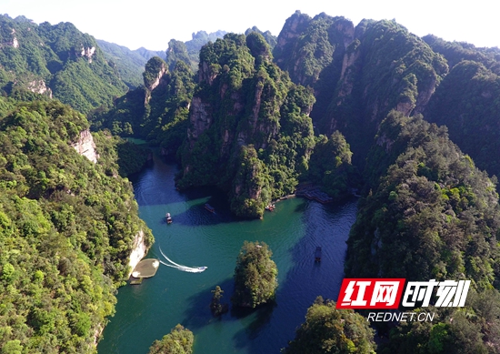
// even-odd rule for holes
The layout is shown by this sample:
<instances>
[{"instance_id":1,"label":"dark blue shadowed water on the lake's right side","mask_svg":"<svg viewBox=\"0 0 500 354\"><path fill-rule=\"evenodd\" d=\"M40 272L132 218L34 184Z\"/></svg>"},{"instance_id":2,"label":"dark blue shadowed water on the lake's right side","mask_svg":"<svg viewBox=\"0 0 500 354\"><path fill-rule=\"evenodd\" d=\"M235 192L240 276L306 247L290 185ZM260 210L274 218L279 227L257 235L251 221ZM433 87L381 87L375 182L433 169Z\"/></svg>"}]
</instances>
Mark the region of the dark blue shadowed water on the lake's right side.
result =
<instances>
[{"instance_id":1,"label":"dark blue shadowed water on the lake's right side","mask_svg":"<svg viewBox=\"0 0 500 354\"><path fill-rule=\"evenodd\" d=\"M235 334L238 349L245 348L251 354L279 353L295 338L295 330L305 321L307 308L315 298L338 297L344 278L345 241L355 221L356 200L338 205L303 204L297 208L304 212L304 235L288 250L291 267L279 278L275 306L267 312L263 309L251 326ZM315 262L317 246L323 250L320 262Z\"/></svg>"}]
</instances>

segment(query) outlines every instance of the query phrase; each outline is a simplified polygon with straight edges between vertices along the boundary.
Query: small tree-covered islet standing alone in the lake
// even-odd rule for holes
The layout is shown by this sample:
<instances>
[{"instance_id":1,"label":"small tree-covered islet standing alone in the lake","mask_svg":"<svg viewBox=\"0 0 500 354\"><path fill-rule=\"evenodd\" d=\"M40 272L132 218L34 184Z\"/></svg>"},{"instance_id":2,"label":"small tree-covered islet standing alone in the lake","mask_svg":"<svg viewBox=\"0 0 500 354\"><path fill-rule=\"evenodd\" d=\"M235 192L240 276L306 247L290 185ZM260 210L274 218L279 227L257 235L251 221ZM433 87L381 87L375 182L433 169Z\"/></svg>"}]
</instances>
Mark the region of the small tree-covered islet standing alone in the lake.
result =
<instances>
[{"instance_id":1,"label":"small tree-covered islet standing alone in the lake","mask_svg":"<svg viewBox=\"0 0 500 354\"><path fill-rule=\"evenodd\" d=\"M275 298L278 286L273 253L264 242L246 242L235 268L235 306L255 308Z\"/></svg>"}]
</instances>

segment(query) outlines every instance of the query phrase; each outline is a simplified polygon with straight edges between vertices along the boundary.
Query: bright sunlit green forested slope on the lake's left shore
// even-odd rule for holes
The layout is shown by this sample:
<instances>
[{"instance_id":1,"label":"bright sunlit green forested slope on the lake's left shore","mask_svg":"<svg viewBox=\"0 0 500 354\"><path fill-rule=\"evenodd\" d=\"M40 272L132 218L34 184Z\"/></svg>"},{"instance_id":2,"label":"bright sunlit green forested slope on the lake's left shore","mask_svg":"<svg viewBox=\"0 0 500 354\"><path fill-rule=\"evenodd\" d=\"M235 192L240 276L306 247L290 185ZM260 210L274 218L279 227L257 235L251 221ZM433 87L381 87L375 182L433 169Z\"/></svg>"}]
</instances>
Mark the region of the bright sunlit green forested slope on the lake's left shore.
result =
<instances>
[{"instance_id":1,"label":"bright sunlit green forested slope on the lake's left shore","mask_svg":"<svg viewBox=\"0 0 500 354\"><path fill-rule=\"evenodd\" d=\"M139 234L153 241L109 137L96 163L72 147L87 127L57 101L0 98L3 353L95 352Z\"/></svg>"}]
</instances>

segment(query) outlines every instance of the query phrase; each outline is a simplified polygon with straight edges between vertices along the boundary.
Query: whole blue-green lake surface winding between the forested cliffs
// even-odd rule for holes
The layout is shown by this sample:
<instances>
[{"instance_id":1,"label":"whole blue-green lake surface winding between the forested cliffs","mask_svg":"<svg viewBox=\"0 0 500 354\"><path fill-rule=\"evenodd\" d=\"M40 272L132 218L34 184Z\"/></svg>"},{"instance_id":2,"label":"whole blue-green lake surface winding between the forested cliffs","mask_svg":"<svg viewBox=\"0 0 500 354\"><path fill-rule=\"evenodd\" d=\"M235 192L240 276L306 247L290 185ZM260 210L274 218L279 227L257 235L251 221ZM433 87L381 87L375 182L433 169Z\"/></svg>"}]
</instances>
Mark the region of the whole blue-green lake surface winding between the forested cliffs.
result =
<instances>
[{"instance_id":1,"label":"whole blue-green lake surface winding between the forested cliffs","mask_svg":"<svg viewBox=\"0 0 500 354\"><path fill-rule=\"evenodd\" d=\"M155 339L181 323L195 334L195 354L279 353L294 339L295 328L318 295L337 298L356 199L324 206L291 198L276 203L263 220L239 220L213 188L176 191L176 171L175 165L155 157L153 167L132 178L140 216L155 235L147 257L164 259L161 247L176 263L208 268L188 273L161 265L155 278L120 288L115 317L98 352L147 353ZM205 210L207 202L215 214ZM174 219L171 225L165 223L166 212ZM279 281L275 305L214 319L208 308L210 290L221 286L222 301L229 302L235 260L245 240L265 241L273 251ZM323 248L319 264L314 261L316 246Z\"/></svg>"}]
</instances>

